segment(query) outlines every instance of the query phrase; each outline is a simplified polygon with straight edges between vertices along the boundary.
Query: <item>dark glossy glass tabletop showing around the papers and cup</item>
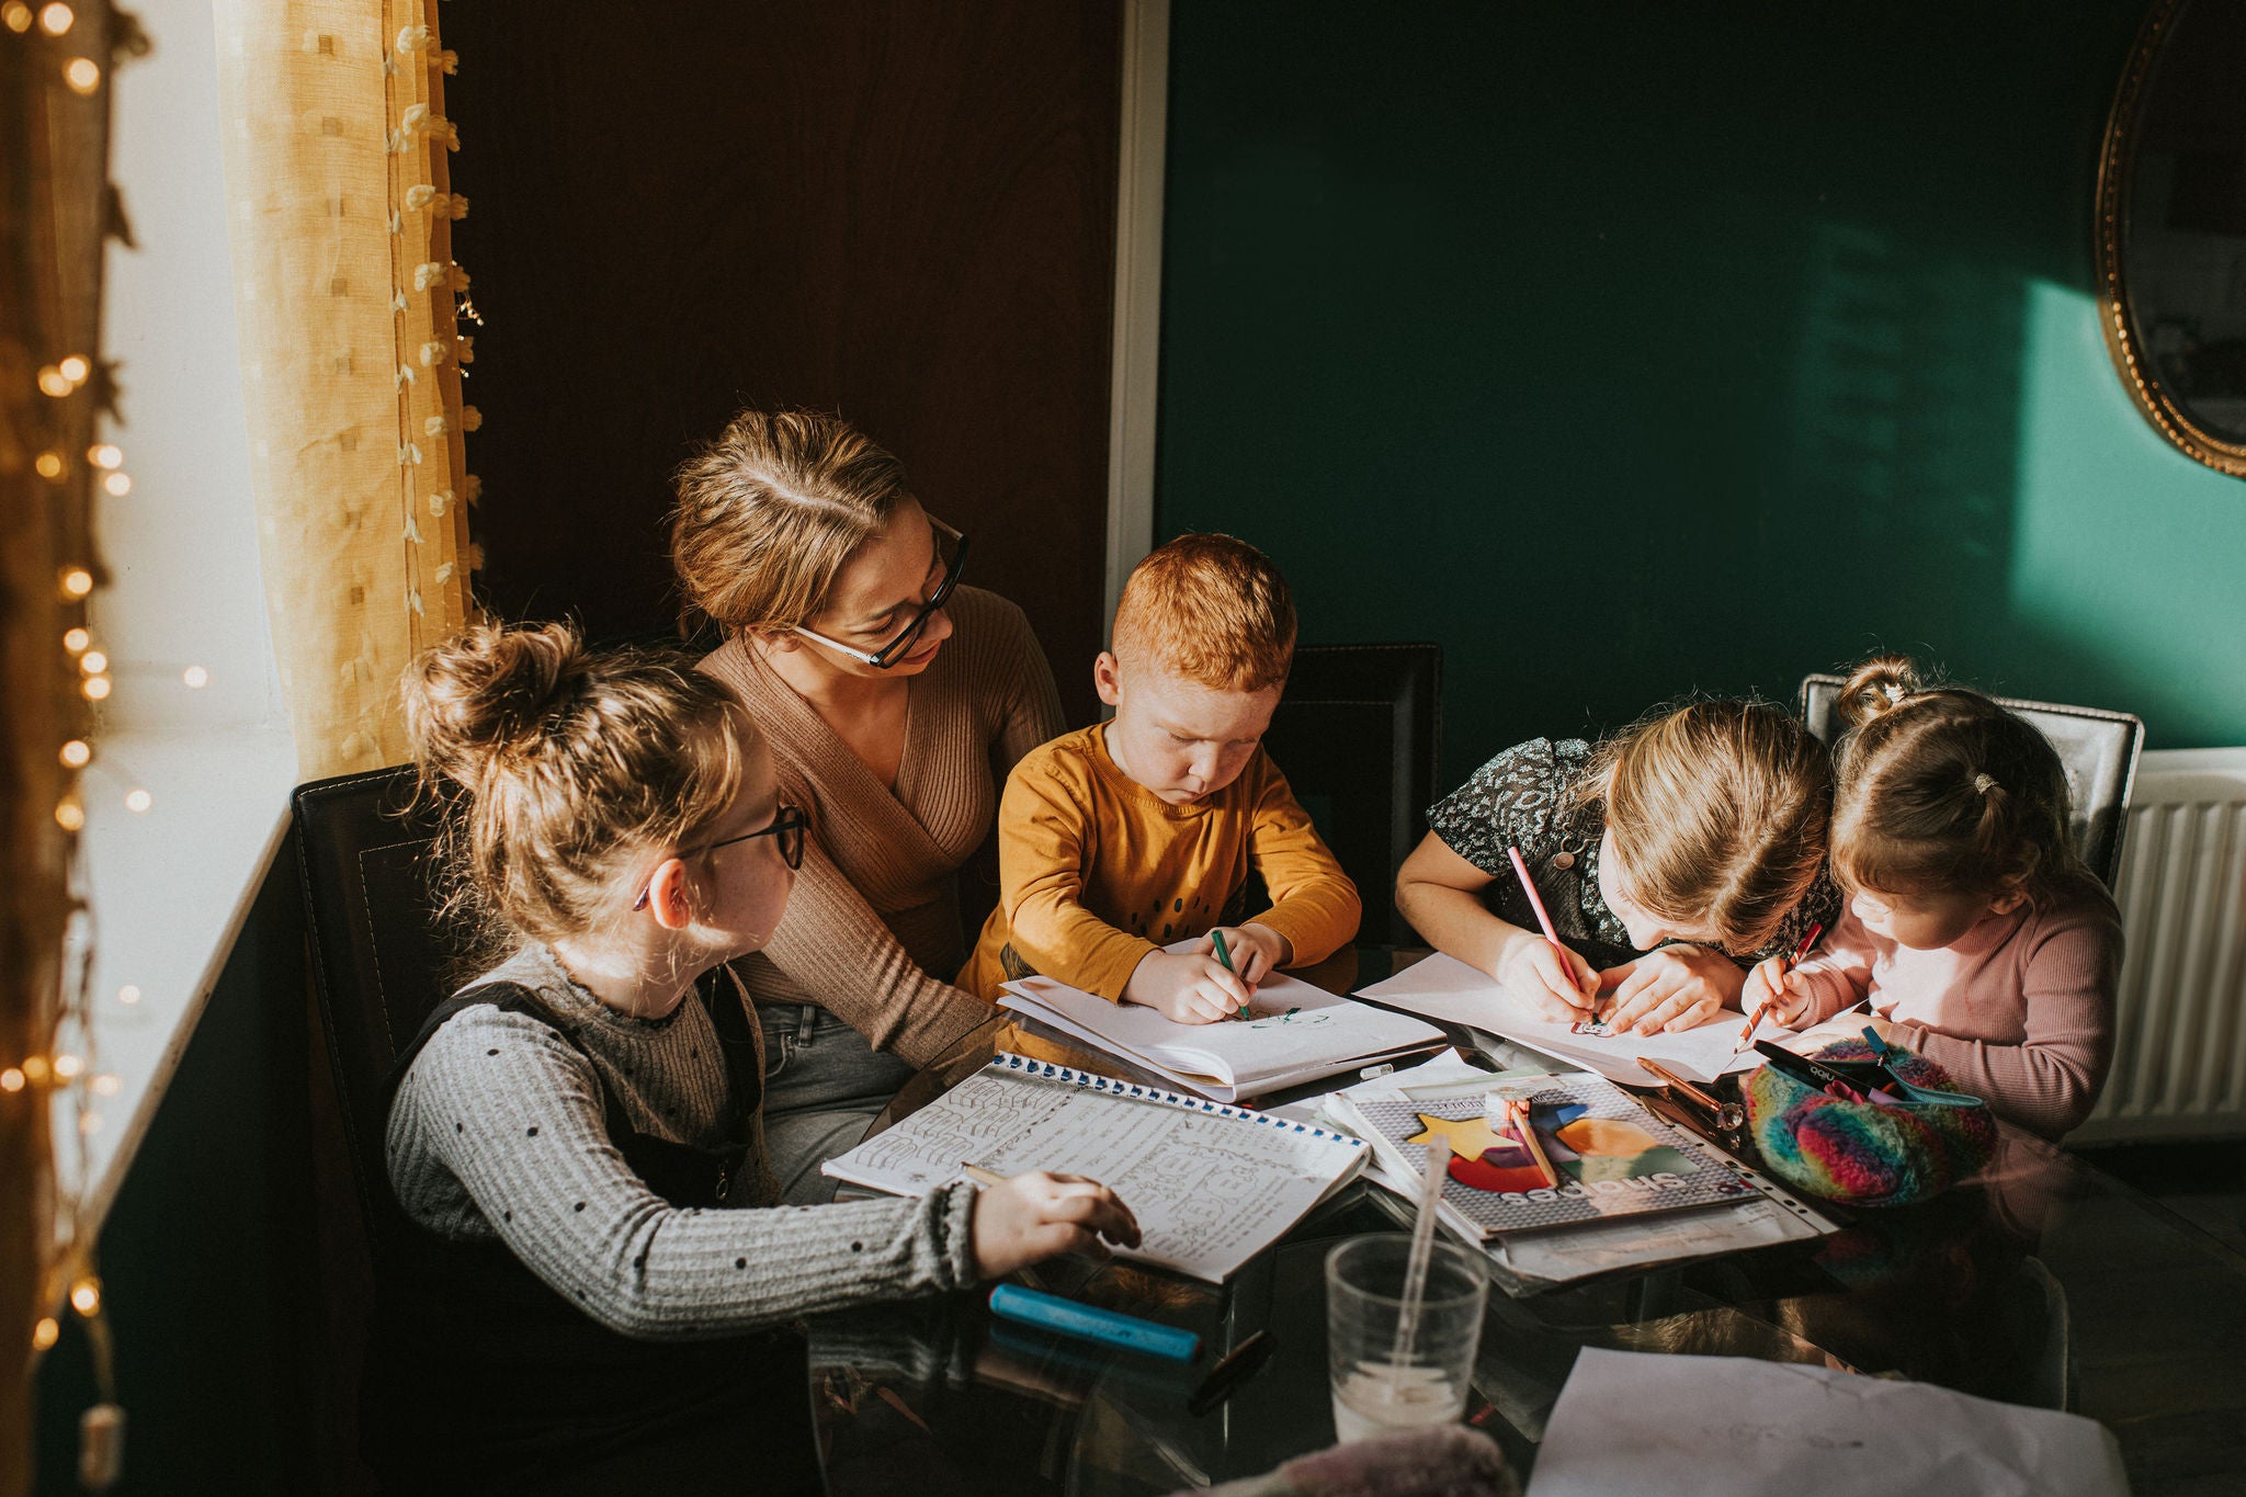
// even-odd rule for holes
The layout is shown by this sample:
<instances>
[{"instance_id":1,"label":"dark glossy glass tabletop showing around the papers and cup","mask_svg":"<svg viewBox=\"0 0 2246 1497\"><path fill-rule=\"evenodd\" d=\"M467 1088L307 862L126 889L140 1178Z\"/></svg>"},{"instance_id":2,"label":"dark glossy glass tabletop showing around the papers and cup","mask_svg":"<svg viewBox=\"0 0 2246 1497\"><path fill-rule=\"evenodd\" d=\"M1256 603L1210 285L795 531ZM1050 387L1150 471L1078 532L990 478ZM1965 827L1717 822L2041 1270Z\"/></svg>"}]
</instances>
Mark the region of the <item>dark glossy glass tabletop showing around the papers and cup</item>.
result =
<instances>
[{"instance_id":1,"label":"dark glossy glass tabletop showing around the papers and cup","mask_svg":"<svg viewBox=\"0 0 2246 1497\"><path fill-rule=\"evenodd\" d=\"M1316 974L1345 990L1388 954ZM1368 976L1370 974L1370 976ZM988 1057L999 1026L898 1095L876 1129ZM2246 1470L2246 1259L2062 1149L2006 1133L1974 1183L1920 1207L1839 1214L1842 1232L1534 1297L1489 1295L1467 1421L1523 1475L1583 1347L1723 1353L1936 1383L2066 1407L2120 1439L2138 1493L2217 1490ZM1334 1441L1325 1257L1408 1225L1352 1185L1222 1288L1112 1261L1026 1273L1202 1338L1190 1367L990 1317L986 1293L811 1322L829 1490L1170 1493L1264 1472ZM1186 1403L1256 1331L1269 1362L1215 1409Z\"/></svg>"}]
</instances>

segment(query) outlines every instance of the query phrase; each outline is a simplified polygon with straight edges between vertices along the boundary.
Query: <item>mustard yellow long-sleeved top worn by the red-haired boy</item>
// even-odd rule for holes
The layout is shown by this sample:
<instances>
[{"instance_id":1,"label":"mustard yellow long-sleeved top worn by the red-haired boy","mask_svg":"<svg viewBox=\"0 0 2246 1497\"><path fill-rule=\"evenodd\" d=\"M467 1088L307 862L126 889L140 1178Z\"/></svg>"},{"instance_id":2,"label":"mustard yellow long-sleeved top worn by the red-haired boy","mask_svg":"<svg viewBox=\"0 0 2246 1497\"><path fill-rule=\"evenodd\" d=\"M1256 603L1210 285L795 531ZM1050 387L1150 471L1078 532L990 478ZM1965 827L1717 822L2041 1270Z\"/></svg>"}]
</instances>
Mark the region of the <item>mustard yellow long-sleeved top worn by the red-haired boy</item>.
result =
<instances>
[{"instance_id":1,"label":"mustard yellow long-sleeved top worn by the red-haired boy","mask_svg":"<svg viewBox=\"0 0 2246 1497\"><path fill-rule=\"evenodd\" d=\"M1242 907L1251 869L1271 909ZM997 875L997 909L959 974L990 1001L1031 972L1121 1001L1148 952L1249 920L1309 965L1357 936L1361 913L1269 754L1256 750L1224 790L1170 806L1116 768L1105 723L1031 750L1006 777Z\"/></svg>"}]
</instances>

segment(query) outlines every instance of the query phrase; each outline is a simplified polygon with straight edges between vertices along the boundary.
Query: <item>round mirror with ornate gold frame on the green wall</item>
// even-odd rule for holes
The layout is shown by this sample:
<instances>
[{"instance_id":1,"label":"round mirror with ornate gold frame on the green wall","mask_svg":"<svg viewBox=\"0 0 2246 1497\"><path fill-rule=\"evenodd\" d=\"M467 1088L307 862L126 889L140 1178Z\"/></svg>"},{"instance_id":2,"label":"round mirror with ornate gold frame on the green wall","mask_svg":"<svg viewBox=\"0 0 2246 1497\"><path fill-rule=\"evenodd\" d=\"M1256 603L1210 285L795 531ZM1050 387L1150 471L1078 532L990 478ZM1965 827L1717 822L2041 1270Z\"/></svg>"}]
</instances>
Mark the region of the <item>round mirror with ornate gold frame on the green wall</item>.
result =
<instances>
[{"instance_id":1,"label":"round mirror with ornate gold frame on the green wall","mask_svg":"<svg viewBox=\"0 0 2246 1497\"><path fill-rule=\"evenodd\" d=\"M2246 478L2246 4L2154 0L2098 162L2098 314L2138 411Z\"/></svg>"}]
</instances>

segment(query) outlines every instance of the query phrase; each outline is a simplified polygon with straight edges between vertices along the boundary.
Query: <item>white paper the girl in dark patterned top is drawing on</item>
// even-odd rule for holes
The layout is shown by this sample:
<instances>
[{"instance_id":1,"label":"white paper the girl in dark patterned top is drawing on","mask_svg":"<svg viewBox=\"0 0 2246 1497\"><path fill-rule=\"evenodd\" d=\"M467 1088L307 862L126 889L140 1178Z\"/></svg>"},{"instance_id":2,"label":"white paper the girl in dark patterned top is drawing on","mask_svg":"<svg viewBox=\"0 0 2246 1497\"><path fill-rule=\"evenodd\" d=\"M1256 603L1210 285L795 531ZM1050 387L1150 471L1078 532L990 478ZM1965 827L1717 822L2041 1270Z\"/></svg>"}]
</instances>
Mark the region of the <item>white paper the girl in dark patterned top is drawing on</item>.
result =
<instances>
[{"instance_id":1,"label":"white paper the girl in dark patterned top is drawing on","mask_svg":"<svg viewBox=\"0 0 2246 1497\"><path fill-rule=\"evenodd\" d=\"M1754 1050L1736 1055L1745 1019L1732 1010L1723 1010L1725 1017L1714 1023L1680 1035L1574 1035L1565 1021L1545 1019L1541 1010L1516 999L1496 979L1442 952L1359 992L1426 1019L1505 1035L1628 1086L1653 1082L1637 1064L1640 1055L1658 1059L1693 1082L1711 1082L1723 1071L1752 1071L1763 1064ZM1763 1026L1763 1039L1777 1035L1779 1030Z\"/></svg>"}]
</instances>

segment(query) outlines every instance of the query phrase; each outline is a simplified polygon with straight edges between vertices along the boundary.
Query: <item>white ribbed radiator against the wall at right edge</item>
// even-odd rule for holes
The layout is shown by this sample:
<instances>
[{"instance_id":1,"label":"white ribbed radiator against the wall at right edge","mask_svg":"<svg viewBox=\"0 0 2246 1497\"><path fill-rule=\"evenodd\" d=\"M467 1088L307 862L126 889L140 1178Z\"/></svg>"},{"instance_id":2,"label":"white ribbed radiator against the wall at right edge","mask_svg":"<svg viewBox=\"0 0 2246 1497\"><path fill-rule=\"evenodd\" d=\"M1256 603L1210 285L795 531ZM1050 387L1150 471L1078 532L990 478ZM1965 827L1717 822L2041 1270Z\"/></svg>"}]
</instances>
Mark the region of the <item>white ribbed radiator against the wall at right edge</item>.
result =
<instances>
[{"instance_id":1,"label":"white ribbed radiator against the wall at right edge","mask_svg":"<svg viewBox=\"0 0 2246 1497\"><path fill-rule=\"evenodd\" d=\"M2246 747L2138 759L2113 1071L2069 1142L2246 1133Z\"/></svg>"}]
</instances>

